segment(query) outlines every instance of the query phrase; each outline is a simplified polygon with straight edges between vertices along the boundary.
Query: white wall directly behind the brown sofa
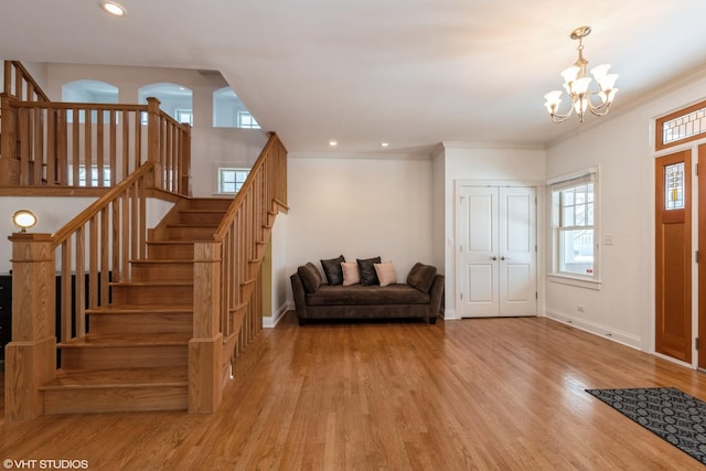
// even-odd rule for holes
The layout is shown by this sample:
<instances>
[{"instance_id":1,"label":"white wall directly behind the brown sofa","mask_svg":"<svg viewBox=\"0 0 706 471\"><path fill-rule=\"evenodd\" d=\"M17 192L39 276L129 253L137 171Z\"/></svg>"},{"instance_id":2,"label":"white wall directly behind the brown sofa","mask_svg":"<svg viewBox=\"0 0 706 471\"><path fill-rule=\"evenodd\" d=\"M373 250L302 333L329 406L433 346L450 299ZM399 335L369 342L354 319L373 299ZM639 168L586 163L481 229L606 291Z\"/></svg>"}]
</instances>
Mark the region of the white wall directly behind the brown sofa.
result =
<instances>
[{"instance_id":1,"label":"white wall directly behind the brown sofa","mask_svg":"<svg viewBox=\"0 0 706 471\"><path fill-rule=\"evenodd\" d=\"M403 281L415 263L434 263L430 159L290 156L287 165L287 283L299 265L322 271L319 260L341 254L392 260Z\"/></svg>"}]
</instances>

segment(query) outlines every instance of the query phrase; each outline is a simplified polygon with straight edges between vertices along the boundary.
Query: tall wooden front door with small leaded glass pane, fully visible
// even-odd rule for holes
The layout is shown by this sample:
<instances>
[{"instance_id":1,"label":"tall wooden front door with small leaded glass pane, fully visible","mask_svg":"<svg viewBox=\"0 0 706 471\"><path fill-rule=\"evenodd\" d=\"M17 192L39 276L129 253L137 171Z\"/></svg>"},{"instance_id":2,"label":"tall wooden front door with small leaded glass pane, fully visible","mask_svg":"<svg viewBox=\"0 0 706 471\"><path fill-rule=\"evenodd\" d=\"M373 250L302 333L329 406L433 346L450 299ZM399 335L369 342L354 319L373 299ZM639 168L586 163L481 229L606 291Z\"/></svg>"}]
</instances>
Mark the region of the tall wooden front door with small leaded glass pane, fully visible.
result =
<instances>
[{"instance_id":1,"label":"tall wooden front door with small leaded glass pane, fully visible","mask_svg":"<svg viewBox=\"0 0 706 471\"><path fill-rule=\"evenodd\" d=\"M655 351L692 362L692 151L655 160Z\"/></svg>"}]
</instances>

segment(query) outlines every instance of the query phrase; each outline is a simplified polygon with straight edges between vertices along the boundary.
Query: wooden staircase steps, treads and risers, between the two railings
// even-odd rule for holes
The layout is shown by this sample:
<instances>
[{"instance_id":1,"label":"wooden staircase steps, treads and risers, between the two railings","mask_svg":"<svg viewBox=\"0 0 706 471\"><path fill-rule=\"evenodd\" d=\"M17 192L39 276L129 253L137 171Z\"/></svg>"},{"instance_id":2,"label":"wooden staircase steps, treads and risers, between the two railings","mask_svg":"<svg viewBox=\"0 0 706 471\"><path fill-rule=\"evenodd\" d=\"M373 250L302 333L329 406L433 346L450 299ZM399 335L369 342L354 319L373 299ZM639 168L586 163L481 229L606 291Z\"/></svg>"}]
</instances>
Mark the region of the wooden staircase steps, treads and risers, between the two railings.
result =
<instances>
[{"instance_id":1,"label":"wooden staircase steps, treads and risers, between the two railings","mask_svg":"<svg viewBox=\"0 0 706 471\"><path fill-rule=\"evenodd\" d=\"M194 243L213 240L231 200L182 200L150 231L147 258L110 303L86 311L87 334L58 344L44 414L186 410L193 332Z\"/></svg>"}]
</instances>

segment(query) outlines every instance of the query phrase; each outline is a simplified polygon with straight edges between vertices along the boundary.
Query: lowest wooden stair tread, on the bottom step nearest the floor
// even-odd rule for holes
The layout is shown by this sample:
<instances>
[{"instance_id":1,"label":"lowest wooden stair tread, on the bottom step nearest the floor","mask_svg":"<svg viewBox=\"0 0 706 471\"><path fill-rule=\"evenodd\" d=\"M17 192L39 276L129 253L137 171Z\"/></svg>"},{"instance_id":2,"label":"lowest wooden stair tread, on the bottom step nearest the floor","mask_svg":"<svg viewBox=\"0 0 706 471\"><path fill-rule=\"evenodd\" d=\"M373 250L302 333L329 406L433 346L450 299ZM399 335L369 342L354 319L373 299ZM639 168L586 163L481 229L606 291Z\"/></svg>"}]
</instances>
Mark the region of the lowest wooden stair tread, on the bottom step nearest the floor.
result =
<instances>
[{"instance_id":1,"label":"lowest wooden stair tread, on the bottom step nearest the floor","mask_svg":"<svg viewBox=\"0 0 706 471\"><path fill-rule=\"evenodd\" d=\"M115 370L57 370L56 377L41 389L185 386L185 367L115 368Z\"/></svg>"}]
</instances>

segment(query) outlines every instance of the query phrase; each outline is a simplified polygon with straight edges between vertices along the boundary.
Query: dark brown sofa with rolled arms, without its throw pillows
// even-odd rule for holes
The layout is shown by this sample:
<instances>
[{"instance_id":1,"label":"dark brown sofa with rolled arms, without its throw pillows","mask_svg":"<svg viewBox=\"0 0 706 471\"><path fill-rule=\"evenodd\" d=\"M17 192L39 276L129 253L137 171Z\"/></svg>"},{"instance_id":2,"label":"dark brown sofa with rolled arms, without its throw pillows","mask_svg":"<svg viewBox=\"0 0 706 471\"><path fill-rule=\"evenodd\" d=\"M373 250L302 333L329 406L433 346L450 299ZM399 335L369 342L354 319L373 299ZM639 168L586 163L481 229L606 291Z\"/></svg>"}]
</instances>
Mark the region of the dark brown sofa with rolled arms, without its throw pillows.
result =
<instances>
[{"instance_id":1,"label":"dark brown sofa with rolled arms, without its throw pillows","mask_svg":"<svg viewBox=\"0 0 706 471\"><path fill-rule=\"evenodd\" d=\"M311 263L300 266L290 280L300 324L314 319L407 318L434 324L443 296L443 276L436 267L419 263L404 283L330 285Z\"/></svg>"}]
</instances>

